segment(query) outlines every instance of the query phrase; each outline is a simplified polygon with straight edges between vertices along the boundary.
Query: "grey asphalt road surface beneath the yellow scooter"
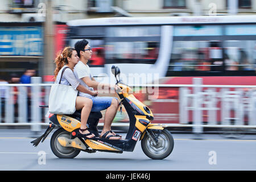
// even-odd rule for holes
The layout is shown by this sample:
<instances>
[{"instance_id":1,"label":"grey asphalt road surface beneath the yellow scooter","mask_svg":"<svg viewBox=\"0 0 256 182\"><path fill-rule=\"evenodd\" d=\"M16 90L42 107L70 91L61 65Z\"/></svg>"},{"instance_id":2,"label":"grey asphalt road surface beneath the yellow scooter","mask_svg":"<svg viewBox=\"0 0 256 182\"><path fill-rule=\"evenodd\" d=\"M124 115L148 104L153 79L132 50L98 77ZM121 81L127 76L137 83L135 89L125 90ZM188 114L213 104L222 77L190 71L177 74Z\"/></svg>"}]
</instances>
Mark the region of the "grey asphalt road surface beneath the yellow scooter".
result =
<instances>
[{"instance_id":1,"label":"grey asphalt road surface beneath the yellow scooter","mask_svg":"<svg viewBox=\"0 0 256 182\"><path fill-rule=\"evenodd\" d=\"M53 130L54 131L54 130ZM42 131L43 133L43 131ZM52 132L53 133L53 132ZM256 135L228 139L218 134L204 134L194 140L192 134L173 134L171 155L163 160L152 160L144 155L141 142L133 152L115 154L80 152L74 159L59 159L51 151L49 137L33 147L30 130L0 130L1 171L173 171L173 170L255 170ZM125 134L123 138L125 137Z\"/></svg>"}]
</instances>

